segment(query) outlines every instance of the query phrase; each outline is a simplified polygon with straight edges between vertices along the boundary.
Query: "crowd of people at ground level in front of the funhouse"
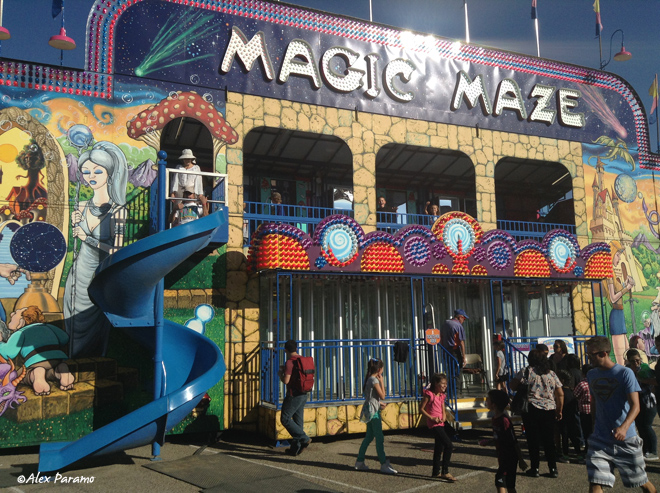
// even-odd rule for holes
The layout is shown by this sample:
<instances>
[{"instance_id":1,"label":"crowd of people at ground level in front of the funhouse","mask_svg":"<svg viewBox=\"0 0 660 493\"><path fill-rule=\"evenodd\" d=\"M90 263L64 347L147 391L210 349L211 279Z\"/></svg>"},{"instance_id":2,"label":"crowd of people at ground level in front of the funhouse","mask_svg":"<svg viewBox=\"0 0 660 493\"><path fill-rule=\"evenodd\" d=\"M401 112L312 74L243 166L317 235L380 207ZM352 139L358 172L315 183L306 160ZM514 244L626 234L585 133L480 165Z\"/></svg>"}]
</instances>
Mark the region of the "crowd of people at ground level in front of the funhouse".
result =
<instances>
[{"instance_id":1,"label":"crowd of people at ground level in front of the funhouse","mask_svg":"<svg viewBox=\"0 0 660 493\"><path fill-rule=\"evenodd\" d=\"M465 312L457 310L451 319L453 324L446 328L446 333L455 336L449 338L455 343L451 349L461 363L464 350L461 351L460 336L465 319ZM658 339L656 342L660 344L660 337ZM282 424L293 437L287 453L298 455L311 443L302 427L307 396L304 393L296 396L292 392L292 375L295 373L292 362L300 357L295 341L288 341L285 348L287 364L280 373L282 382L287 385ZM657 414L654 389L660 383L660 368L651 369L635 348L626 352L625 366L615 363L610 357L611 342L603 336L587 341L588 364L582 365L576 355L570 354L562 340L555 341L553 349L553 355L549 355L549 348L538 344L529 352L528 365L510 381L513 391L526 396L522 422L528 446L528 467L508 413L510 397L502 378L506 371L504 348L496 347L495 380L503 385L488 392L486 406L492 413L493 439L481 440L479 444L495 443L497 491L516 491L518 468L532 478L539 477L543 449L551 478L559 476L557 462L582 463L586 465L590 492L598 493L603 487L613 487L616 468L625 487L639 487L654 493L656 489L648 480L645 463L659 460L652 423ZM358 451L355 469L369 470L366 453L375 439L380 472L397 474L385 454L380 416L386 396L383 369L383 361L369 360L364 380L365 401L360 415L360 420L366 423L366 436ZM447 423L452 418L446 406L447 386L445 374L433 374L429 386L423 391L420 412L435 440L431 476L454 483L457 478L449 472L454 446L451 433L447 431Z\"/></svg>"}]
</instances>

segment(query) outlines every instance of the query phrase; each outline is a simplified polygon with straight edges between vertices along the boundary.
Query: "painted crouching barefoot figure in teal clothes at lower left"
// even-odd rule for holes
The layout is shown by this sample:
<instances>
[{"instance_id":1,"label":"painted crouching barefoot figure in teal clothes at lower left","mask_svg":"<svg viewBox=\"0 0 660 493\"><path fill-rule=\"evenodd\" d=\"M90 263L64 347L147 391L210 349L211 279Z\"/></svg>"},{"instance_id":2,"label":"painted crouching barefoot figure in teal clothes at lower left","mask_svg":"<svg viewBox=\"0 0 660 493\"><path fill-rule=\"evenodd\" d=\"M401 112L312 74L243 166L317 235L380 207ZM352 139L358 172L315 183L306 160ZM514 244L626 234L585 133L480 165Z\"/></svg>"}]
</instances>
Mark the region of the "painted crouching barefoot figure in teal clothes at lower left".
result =
<instances>
[{"instance_id":1,"label":"painted crouching barefoot figure in teal clothes at lower left","mask_svg":"<svg viewBox=\"0 0 660 493\"><path fill-rule=\"evenodd\" d=\"M27 380L35 395L50 394L48 380L56 380L61 390L73 390L75 380L64 362L66 354L60 347L69 342L69 336L54 325L47 324L36 306L20 308L9 316L7 323L11 335L0 343L0 356L25 360Z\"/></svg>"}]
</instances>

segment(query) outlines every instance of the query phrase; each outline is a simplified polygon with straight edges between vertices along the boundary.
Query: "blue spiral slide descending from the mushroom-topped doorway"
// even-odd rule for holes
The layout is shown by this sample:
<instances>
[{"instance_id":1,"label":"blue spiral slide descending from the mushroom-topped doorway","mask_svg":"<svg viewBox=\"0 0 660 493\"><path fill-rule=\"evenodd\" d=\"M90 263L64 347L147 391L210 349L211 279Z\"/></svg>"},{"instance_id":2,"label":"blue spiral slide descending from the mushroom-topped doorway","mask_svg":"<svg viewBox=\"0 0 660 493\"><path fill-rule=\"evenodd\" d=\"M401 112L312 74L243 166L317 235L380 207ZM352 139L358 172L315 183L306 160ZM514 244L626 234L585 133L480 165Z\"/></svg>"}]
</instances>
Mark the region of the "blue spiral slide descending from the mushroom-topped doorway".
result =
<instances>
[{"instance_id":1,"label":"blue spiral slide descending from the mushroom-topped doorway","mask_svg":"<svg viewBox=\"0 0 660 493\"><path fill-rule=\"evenodd\" d=\"M74 442L42 443L40 471L58 471L91 455L162 445L165 434L220 381L226 366L215 342L163 320L163 278L212 239L226 243L227 237L222 208L128 245L98 267L89 294L115 327L154 351L155 398Z\"/></svg>"}]
</instances>

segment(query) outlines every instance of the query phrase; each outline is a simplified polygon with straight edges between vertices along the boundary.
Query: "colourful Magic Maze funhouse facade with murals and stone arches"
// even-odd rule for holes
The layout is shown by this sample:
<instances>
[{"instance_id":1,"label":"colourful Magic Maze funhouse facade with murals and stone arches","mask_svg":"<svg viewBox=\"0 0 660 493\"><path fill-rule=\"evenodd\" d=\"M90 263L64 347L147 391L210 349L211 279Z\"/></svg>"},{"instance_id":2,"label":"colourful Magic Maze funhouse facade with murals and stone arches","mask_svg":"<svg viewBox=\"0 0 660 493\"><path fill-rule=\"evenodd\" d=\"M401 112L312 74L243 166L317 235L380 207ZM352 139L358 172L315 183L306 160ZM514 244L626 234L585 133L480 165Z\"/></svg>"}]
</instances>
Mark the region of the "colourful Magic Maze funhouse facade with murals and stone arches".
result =
<instances>
[{"instance_id":1,"label":"colourful Magic Maze funhouse facade with murals and stone arches","mask_svg":"<svg viewBox=\"0 0 660 493\"><path fill-rule=\"evenodd\" d=\"M191 149L211 211L228 214L165 277L165 318L227 365L174 432L286 438L289 338L316 360L305 427L321 436L364 431L374 356L386 428L419 424L439 368L469 426L458 387L489 382L425 340L454 308L486 380L496 335L519 364L545 337L580 354L612 310L628 335L660 330L660 159L619 77L279 2L97 0L87 36L85 70L0 61L0 260L14 266L1 315L39 307L67 334L56 345L75 377L47 395L20 378L26 358L4 356L4 446L78 438L148 400L151 356L106 327L92 279L153 233L179 176L158 191L158 151L173 170Z\"/></svg>"}]
</instances>

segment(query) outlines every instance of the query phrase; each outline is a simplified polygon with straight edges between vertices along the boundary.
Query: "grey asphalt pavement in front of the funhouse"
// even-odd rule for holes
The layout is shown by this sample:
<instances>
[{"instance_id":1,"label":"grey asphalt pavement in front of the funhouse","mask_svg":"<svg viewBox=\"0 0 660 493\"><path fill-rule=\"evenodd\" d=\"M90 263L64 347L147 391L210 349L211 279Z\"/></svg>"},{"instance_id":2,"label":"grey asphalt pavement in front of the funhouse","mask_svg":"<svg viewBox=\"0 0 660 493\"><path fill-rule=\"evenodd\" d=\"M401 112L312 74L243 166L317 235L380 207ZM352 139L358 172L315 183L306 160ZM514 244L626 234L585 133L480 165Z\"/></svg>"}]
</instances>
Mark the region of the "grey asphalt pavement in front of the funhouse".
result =
<instances>
[{"instance_id":1,"label":"grey asphalt pavement in front of the funhouse","mask_svg":"<svg viewBox=\"0 0 660 493\"><path fill-rule=\"evenodd\" d=\"M660 420L656 418L656 433ZM212 444L197 437L174 437L161 449L159 461L152 461L151 448L140 447L122 453L88 458L70 468L49 474L48 482L36 483L39 473L38 449L0 451L0 489L7 492L64 491L157 491L157 492L424 492L477 493L494 491L497 459L494 447L480 447L478 441L492 433L487 429L461 432L456 442L450 472L454 484L430 477L433 439L423 429L385 435L385 452L396 476L378 472L375 445L367 453L371 471L355 471L355 456L362 436L315 438L298 457L263 437L238 431L224 432ZM521 440L526 455L525 440ZM586 467L559 464L559 478L547 475L541 463L541 477L518 476L521 493L587 491ZM647 463L649 479L660 486L660 461ZM59 474L59 476L57 476ZM617 474L612 492L624 491ZM65 482L66 481L66 482ZM77 482L76 482L77 481ZM627 490L630 491L630 490Z\"/></svg>"}]
</instances>

